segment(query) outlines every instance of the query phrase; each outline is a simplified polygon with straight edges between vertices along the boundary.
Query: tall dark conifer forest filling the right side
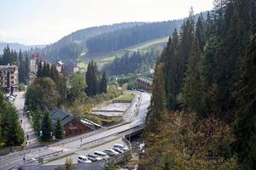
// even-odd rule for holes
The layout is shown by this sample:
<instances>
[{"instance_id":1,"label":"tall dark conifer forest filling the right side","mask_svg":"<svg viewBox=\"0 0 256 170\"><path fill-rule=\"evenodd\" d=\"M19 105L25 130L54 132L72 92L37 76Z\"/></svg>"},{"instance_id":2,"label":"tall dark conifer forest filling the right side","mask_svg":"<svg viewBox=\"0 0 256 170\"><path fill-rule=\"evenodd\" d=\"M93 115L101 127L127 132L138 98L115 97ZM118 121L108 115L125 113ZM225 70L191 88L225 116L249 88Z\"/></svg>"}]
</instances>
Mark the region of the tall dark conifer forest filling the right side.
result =
<instances>
[{"instance_id":1,"label":"tall dark conifer forest filling the right side","mask_svg":"<svg viewBox=\"0 0 256 170\"><path fill-rule=\"evenodd\" d=\"M146 168L154 162L160 162L160 169L172 169L186 163L193 167L193 162L199 166L195 169L214 169L215 166L221 169L256 168L253 154L256 130L255 13L254 0L215 0L207 20L200 16L195 23L191 10L181 30L173 31L155 67L153 96L144 133L148 142L146 150L154 150L160 156L151 164L148 161L151 155L147 152L148 157L143 160L148 161ZM193 123L197 126L188 119L194 113ZM181 130L168 131L166 126L173 127L168 120L182 125L178 127ZM218 138L213 145L201 144L200 139L210 141L210 136L214 135L212 130L216 130L216 127L203 125L203 122L211 123L210 120L219 124L222 133L215 132L216 135L227 135L230 139L224 142ZM187 125L183 127L183 123ZM204 138L197 138L196 131L189 134L188 127L193 126L195 129L204 126L212 133L210 136L201 133ZM166 131L176 136L195 135L186 136L185 140L169 138ZM168 151L163 154L164 150L154 147L153 136L160 143L172 141L161 145L172 150L172 154L166 153ZM216 144L224 147L214 148ZM196 153L199 146L204 150ZM181 156L183 162L174 156Z\"/></svg>"}]
</instances>

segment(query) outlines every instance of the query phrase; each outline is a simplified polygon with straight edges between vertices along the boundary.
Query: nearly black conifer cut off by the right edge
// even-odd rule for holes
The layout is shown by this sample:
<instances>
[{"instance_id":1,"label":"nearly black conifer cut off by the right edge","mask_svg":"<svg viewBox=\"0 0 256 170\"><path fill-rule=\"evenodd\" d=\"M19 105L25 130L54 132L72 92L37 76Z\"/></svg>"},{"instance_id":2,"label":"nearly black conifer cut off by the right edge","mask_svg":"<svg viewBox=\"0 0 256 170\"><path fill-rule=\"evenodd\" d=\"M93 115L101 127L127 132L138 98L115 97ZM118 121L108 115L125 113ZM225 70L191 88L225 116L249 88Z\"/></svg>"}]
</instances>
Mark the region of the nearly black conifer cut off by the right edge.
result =
<instances>
[{"instance_id":1,"label":"nearly black conifer cut off by the right edge","mask_svg":"<svg viewBox=\"0 0 256 170\"><path fill-rule=\"evenodd\" d=\"M256 168L256 29L236 84L236 151L246 169Z\"/></svg>"}]
</instances>

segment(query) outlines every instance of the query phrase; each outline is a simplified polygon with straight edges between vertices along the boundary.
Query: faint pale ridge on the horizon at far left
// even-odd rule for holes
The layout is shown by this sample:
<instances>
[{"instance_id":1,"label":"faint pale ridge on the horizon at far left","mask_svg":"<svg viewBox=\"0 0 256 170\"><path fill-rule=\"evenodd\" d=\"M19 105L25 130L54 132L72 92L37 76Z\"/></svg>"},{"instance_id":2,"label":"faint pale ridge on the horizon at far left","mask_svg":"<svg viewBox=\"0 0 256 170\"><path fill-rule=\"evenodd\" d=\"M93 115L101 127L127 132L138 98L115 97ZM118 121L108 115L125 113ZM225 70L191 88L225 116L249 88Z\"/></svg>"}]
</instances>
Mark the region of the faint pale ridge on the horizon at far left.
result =
<instances>
[{"instance_id":1,"label":"faint pale ridge on the horizon at far left","mask_svg":"<svg viewBox=\"0 0 256 170\"><path fill-rule=\"evenodd\" d=\"M3 54L3 48L9 45L9 48L19 51L21 50L30 50L31 48L44 48L45 45L23 45L15 42L2 42L0 41L0 54Z\"/></svg>"}]
</instances>

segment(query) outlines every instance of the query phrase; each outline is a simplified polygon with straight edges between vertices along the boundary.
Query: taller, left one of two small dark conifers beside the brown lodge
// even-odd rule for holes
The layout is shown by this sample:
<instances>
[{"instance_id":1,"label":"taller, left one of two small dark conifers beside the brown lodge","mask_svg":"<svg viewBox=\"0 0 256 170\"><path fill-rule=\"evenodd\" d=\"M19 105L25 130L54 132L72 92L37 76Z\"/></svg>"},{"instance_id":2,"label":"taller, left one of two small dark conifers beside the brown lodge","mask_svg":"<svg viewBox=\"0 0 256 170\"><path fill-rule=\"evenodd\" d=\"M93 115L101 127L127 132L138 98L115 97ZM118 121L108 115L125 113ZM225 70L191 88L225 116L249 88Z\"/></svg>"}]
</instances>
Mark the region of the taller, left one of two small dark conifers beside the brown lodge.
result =
<instances>
[{"instance_id":1,"label":"taller, left one of two small dark conifers beside the brown lodge","mask_svg":"<svg viewBox=\"0 0 256 170\"><path fill-rule=\"evenodd\" d=\"M47 140L51 139L50 133L52 133L52 123L51 119L49 117L49 112L44 113L43 121L42 121L42 132L43 132L43 137L42 139Z\"/></svg>"}]
</instances>

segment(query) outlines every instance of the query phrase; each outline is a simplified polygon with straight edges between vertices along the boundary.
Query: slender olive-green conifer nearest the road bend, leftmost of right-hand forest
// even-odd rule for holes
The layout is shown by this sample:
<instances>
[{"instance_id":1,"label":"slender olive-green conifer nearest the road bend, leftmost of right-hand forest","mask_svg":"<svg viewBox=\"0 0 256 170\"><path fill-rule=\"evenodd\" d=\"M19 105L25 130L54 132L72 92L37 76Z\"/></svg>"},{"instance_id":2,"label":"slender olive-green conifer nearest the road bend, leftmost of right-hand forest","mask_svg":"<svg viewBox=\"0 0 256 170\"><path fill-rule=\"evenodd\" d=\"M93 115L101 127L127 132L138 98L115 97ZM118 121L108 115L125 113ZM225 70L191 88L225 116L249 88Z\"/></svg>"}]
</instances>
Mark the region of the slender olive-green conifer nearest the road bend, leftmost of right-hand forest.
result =
<instances>
[{"instance_id":1,"label":"slender olive-green conifer nearest the road bend, leftmost of right-hand forest","mask_svg":"<svg viewBox=\"0 0 256 170\"><path fill-rule=\"evenodd\" d=\"M162 121L162 115L166 111L165 82L163 76L163 64L155 66L154 81L152 85L152 98L146 117L146 133L158 133L156 126Z\"/></svg>"}]
</instances>

